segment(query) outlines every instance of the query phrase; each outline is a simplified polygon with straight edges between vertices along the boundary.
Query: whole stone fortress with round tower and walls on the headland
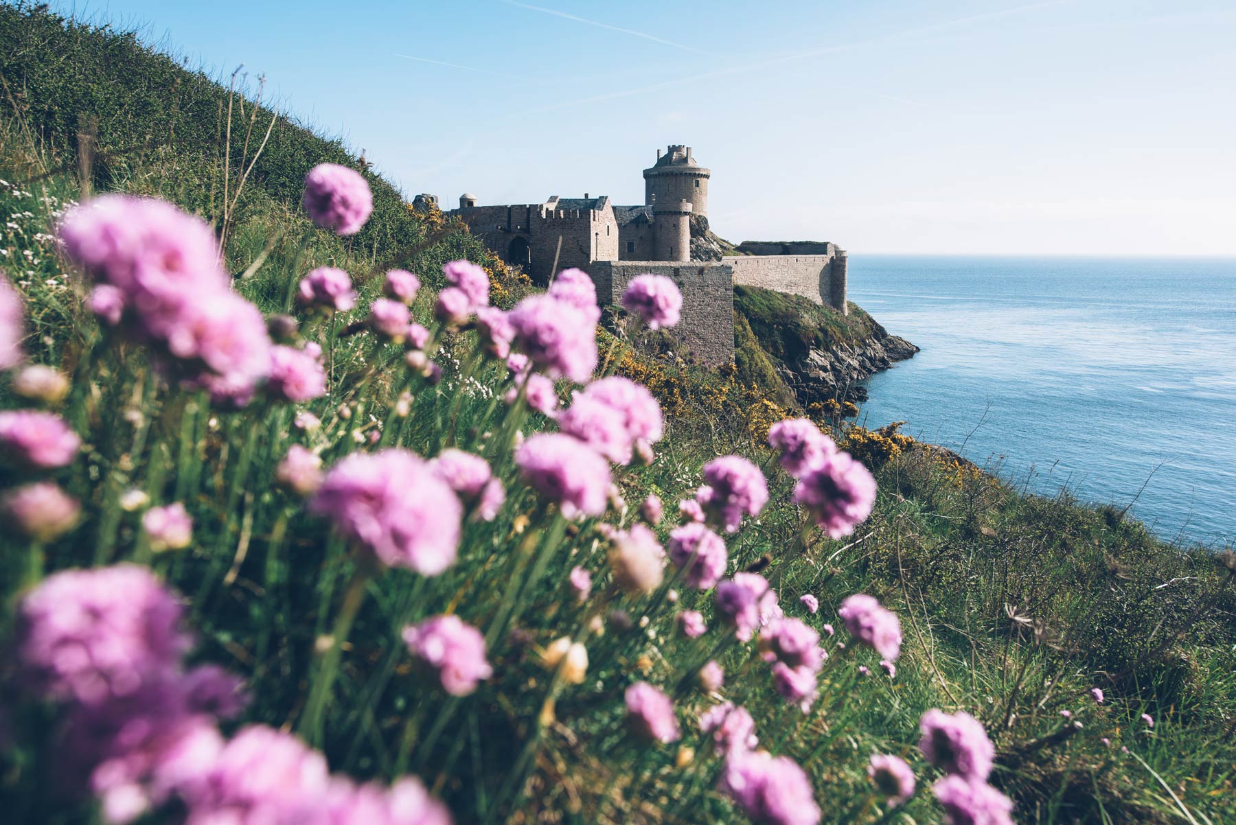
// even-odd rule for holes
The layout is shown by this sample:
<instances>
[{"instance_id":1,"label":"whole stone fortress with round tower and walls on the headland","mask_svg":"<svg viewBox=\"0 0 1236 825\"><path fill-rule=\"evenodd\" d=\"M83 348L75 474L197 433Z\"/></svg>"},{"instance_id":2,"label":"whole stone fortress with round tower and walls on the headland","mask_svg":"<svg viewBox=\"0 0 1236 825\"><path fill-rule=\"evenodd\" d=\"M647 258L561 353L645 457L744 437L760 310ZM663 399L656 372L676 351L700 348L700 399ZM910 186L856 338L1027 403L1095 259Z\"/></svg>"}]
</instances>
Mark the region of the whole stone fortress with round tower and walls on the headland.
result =
<instances>
[{"instance_id":1,"label":"whole stone fortress with round tower and walls on the headland","mask_svg":"<svg viewBox=\"0 0 1236 825\"><path fill-rule=\"evenodd\" d=\"M476 195L465 194L452 214L541 287L556 270L583 269L602 306L617 304L635 275L669 275L682 290L682 322L675 332L702 363L733 361L735 284L805 295L845 314L845 251L823 242L748 241L737 247L740 254L724 254L708 230L711 178L690 146L670 146L664 154L658 149L656 163L644 169L639 206L616 206L587 194L481 206Z\"/></svg>"}]
</instances>

